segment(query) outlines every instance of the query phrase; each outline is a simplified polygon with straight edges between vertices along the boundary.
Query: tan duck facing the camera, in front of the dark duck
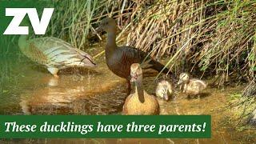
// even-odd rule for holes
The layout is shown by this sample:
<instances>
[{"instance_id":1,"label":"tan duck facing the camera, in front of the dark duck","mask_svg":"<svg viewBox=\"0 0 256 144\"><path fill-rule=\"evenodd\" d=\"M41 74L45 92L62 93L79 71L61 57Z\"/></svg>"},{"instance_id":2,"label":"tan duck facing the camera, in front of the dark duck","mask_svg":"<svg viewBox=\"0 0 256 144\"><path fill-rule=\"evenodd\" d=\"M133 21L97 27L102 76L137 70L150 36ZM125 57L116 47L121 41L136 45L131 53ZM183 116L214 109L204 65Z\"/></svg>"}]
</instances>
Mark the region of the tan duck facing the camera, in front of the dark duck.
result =
<instances>
[{"instance_id":1,"label":"tan duck facing the camera, in front of the dark duck","mask_svg":"<svg viewBox=\"0 0 256 144\"><path fill-rule=\"evenodd\" d=\"M134 84L134 93L130 94L123 105L125 115L157 115L160 108L157 98L143 90L142 68L134 63L130 66L130 82Z\"/></svg>"}]
</instances>

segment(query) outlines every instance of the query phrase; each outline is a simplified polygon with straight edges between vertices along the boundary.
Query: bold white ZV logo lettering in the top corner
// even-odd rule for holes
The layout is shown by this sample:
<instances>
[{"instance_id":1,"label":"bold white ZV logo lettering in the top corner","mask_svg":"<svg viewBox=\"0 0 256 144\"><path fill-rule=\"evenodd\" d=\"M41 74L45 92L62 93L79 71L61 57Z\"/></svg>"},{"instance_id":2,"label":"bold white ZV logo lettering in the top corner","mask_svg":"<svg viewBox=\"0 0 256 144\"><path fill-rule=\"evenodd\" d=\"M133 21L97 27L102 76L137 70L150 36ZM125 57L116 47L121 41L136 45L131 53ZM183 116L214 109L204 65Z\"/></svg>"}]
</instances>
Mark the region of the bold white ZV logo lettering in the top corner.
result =
<instances>
[{"instance_id":1,"label":"bold white ZV logo lettering in the top corner","mask_svg":"<svg viewBox=\"0 0 256 144\"><path fill-rule=\"evenodd\" d=\"M28 26L19 26L23 18L28 14L35 34L45 34L54 8L45 8L41 21L35 8L6 8L6 16L14 16L3 34L29 34Z\"/></svg>"}]
</instances>

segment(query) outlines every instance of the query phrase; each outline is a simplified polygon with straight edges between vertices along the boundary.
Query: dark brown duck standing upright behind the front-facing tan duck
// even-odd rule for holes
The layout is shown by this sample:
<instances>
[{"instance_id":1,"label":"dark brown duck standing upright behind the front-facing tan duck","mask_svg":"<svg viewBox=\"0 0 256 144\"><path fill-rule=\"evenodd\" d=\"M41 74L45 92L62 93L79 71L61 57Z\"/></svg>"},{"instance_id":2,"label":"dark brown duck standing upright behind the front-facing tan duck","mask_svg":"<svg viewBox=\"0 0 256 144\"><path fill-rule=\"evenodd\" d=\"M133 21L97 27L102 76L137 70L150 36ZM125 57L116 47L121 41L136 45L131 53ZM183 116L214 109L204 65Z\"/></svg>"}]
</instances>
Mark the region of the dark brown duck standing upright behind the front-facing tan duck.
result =
<instances>
[{"instance_id":1,"label":"dark brown duck standing upright behind the front-facing tan duck","mask_svg":"<svg viewBox=\"0 0 256 144\"><path fill-rule=\"evenodd\" d=\"M160 62L155 61L146 52L131 46L117 46L116 34L117 26L113 18L105 18L100 22L98 32L106 31L105 57L106 65L118 77L125 78L128 83L128 94L130 94L130 66L139 63L143 69L154 69L158 72L171 74Z\"/></svg>"}]
</instances>

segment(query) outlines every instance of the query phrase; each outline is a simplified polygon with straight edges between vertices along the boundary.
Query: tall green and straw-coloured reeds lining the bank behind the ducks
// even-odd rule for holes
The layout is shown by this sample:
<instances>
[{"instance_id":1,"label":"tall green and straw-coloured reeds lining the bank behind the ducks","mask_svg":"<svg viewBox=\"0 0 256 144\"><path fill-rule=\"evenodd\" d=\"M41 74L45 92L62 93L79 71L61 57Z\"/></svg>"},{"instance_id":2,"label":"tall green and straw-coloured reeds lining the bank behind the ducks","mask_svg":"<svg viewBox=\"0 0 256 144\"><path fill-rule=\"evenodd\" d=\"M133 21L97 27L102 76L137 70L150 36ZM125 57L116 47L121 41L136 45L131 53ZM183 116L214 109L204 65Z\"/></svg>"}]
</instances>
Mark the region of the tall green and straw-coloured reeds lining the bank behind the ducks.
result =
<instances>
[{"instance_id":1,"label":"tall green and straw-coloured reeds lining the bank behind the ducks","mask_svg":"<svg viewBox=\"0 0 256 144\"><path fill-rule=\"evenodd\" d=\"M114 17L119 44L147 51L155 59L167 58L166 67L174 74L217 75L220 86L256 77L255 1L74 0L50 5L55 10L45 36L62 38L78 49L98 42L98 23Z\"/></svg>"}]
</instances>

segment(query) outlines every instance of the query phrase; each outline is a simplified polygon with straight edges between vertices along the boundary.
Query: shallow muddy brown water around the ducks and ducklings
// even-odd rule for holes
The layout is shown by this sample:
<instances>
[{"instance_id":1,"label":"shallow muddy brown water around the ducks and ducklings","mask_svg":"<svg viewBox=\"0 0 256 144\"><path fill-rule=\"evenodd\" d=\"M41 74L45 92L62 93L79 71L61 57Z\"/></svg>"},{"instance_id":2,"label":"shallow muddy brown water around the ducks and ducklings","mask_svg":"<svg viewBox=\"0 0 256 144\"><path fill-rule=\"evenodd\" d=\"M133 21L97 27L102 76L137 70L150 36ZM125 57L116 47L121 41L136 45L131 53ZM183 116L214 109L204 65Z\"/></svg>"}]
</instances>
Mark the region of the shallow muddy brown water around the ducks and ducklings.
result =
<instances>
[{"instance_id":1,"label":"shallow muddy brown water around the ducks and ducklings","mask_svg":"<svg viewBox=\"0 0 256 144\"><path fill-rule=\"evenodd\" d=\"M95 52L96 54L96 52ZM0 114L120 114L126 98L126 81L107 69L103 55L95 70L62 70L53 78L42 66L22 55L0 56ZM154 94L156 73L144 78L145 89ZM242 86L224 90L207 88L206 97L175 94L170 102L158 100L161 114L210 114L210 139L22 139L2 142L26 143L254 143L255 130L238 132L226 124L224 109L229 94Z\"/></svg>"}]
</instances>

